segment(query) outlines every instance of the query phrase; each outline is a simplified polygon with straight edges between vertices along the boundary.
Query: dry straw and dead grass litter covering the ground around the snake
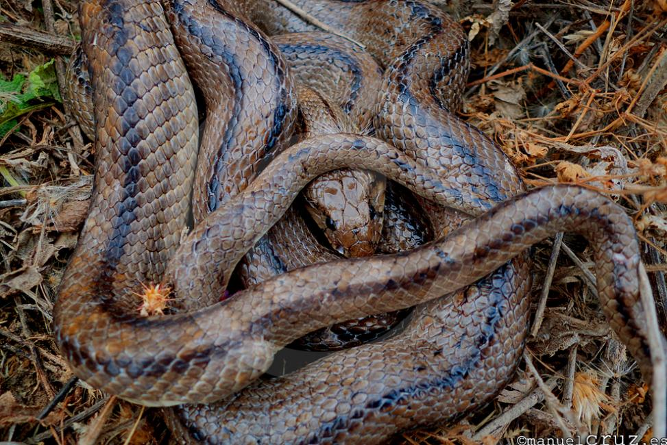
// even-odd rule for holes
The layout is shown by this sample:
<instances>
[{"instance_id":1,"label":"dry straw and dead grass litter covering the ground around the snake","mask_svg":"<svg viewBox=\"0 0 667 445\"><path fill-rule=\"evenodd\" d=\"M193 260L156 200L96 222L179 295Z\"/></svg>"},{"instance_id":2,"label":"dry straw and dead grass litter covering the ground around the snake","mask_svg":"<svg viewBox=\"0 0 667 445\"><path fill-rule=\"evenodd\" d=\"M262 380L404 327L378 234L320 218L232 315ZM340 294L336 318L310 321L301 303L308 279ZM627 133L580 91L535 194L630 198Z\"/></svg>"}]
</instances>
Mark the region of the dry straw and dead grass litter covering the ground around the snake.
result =
<instances>
[{"instance_id":1,"label":"dry straw and dead grass litter covering the ground around the snake","mask_svg":"<svg viewBox=\"0 0 667 445\"><path fill-rule=\"evenodd\" d=\"M47 20L23 0L1 2L0 14L31 29L78 33L73 2L43 4ZM665 330L667 4L519 0L509 19L490 5L461 10L474 36L466 118L500 144L529 185L578 183L627 208ZM0 46L5 78L49 58ZM61 105L25 114L19 124L0 141L0 441L166 443L155 410L75 381L58 355L51 310L86 216L94 153ZM650 437L650 393L601 316L585 243L566 234L537 246L534 257L537 315L516 378L454 426L395 442Z\"/></svg>"}]
</instances>

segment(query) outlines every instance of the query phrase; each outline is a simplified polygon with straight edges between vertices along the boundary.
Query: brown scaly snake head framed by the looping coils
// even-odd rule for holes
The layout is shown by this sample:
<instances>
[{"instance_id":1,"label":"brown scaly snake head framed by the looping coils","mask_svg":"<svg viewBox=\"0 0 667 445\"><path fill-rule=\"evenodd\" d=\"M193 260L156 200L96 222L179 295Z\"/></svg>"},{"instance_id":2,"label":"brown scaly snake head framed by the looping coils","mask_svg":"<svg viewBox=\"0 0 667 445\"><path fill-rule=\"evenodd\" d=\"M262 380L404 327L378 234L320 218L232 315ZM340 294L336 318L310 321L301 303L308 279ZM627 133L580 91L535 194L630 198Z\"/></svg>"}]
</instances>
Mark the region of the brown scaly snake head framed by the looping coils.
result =
<instances>
[{"instance_id":1,"label":"brown scaly snake head framed by the looping coils","mask_svg":"<svg viewBox=\"0 0 667 445\"><path fill-rule=\"evenodd\" d=\"M385 179L366 170L335 170L304 192L306 209L332 248L345 257L365 257L380 241Z\"/></svg>"}]
</instances>

